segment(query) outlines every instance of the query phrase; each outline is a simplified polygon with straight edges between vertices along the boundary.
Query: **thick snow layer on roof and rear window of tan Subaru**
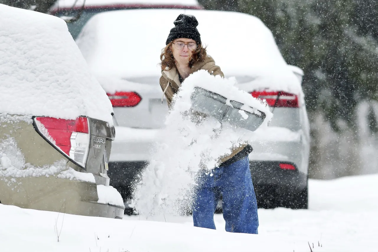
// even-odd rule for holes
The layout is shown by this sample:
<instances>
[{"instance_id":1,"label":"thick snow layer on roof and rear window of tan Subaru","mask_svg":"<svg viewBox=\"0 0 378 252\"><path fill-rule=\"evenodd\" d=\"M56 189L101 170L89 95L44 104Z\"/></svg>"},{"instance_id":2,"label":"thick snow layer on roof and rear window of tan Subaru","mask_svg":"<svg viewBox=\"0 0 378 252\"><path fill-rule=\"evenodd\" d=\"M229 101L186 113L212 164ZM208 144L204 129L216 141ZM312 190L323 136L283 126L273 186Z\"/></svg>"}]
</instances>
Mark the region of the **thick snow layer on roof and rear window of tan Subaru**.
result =
<instances>
[{"instance_id":1,"label":"thick snow layer on roof and rear window of tan Subaru","mask_svg":"<svg viewBox=\"0 0 378 252\"><path fill-rule=\"evenodd\" d=\"M0 23L0 113L112 124L112 105L62 19L0 4Z\"/></svg>"}]
</instances>

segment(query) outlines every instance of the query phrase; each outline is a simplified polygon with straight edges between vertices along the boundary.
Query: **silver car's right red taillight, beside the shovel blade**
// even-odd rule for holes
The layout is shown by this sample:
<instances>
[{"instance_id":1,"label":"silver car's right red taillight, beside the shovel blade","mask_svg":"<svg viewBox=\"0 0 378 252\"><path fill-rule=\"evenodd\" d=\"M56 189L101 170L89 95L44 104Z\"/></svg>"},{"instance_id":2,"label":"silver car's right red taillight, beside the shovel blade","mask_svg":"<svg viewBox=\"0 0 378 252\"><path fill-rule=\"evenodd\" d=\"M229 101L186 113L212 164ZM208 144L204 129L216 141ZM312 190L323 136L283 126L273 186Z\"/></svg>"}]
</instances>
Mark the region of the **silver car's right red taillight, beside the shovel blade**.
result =
<instances>
[{"instance_id":1,"label":"silver car's right red taillight, beside the shovel blade","mask_svg":"<svg viewBox=\"0 0 378 252\"><path fill-rule=\"evenodd\" d=\"M273 107L274 104L276 104L276 107L299 107L298 96L292 93L279 91L253 91L251 94L254 98L266 100L268 105L271 107Z\"/></svg>"}]
</instances>

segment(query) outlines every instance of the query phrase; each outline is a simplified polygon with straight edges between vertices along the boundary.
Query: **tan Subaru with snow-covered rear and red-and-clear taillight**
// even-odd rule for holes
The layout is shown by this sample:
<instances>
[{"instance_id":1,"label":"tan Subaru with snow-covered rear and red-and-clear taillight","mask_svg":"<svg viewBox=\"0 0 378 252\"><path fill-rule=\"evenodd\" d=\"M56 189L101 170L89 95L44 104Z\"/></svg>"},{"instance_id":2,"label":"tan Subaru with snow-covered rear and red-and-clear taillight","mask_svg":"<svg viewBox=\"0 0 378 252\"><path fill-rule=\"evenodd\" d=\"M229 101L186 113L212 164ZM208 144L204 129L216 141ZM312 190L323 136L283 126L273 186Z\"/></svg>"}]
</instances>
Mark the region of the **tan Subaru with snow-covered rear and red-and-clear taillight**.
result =
<instances>
[{"instance_id":1,"label":"tan Subaru with snow-covered rear and red-and-clear taillight","mask_svg":"<svg viewBox=\"0 0 378 252\"><path fill-rule=\"evenodd\" d=\"M122 218L112 105L57 17L0 4L0 202Z\"/></svg>"}]
</instances>

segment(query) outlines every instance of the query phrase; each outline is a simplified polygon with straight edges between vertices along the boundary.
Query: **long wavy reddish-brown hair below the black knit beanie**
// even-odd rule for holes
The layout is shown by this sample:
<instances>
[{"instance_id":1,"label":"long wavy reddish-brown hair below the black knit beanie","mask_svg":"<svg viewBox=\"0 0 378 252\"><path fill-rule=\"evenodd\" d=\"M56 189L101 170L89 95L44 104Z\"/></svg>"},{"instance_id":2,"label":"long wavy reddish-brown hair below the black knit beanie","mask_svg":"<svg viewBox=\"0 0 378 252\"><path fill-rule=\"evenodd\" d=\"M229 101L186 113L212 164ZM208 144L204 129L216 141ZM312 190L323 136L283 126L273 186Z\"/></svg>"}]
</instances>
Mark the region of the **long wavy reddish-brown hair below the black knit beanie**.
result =
<instances>
[{"instance_id":1,"label":"long wavy reddish-brown hair below the black knit beanie","mask_svg":"<svg viewBox=\"0 0 378 252\"><path fill-rule=\"evenodd\" d=\"M172 53L172 43L173 41L169 42L169 44L161 50L160 54L160 66L161 70L171 70L172 67L175 66L175 58L173 57ZM206 53L206 47L202 47L202 44L199 44L197 49L193 52L192 58L189 61L189 67L192 67L192 65L199 61L204 61L206 59L206 56L208 54Z\"/></svg>"}]
</instances>

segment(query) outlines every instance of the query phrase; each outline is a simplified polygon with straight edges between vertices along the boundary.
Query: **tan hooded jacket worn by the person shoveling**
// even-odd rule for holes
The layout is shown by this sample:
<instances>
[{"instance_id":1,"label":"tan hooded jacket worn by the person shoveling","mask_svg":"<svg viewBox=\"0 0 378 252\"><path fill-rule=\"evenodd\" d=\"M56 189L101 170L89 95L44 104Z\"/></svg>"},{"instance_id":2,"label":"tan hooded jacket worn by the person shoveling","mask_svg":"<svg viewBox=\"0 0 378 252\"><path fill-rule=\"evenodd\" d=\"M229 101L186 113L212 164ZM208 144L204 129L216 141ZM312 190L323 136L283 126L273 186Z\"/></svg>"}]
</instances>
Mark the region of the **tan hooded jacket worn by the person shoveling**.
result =
<instances>
[{"instance_id":1,"label":"tan hooded jacket worn by the person shoveling","mask_svg":"<svg viewBox=\"0 0 378 252\"><path fill-rule=\"evenodd\" d=\"M198 70L207 70L212 75L220 75L222 78L224 77L222 71L220 70L220 67L215 65L215 61L213 58L208 56L204 61L197 62L193 64L190 74L197 72ZM178 89L181 86L181 82L179 79L178 71L176 67L172 67L168 71L161 71L161 77L160 77L160 86L161 89L164 92L165 97L167 98L168 107L170 108L172 103L173 96L178 92ZM223 163L229 159L231 159L233 156L235 156L237 153L242 151L245 148L246 144L235 146L231 149L231 154L220 157L220 163Z\"/></svg>"}]
</instances>

